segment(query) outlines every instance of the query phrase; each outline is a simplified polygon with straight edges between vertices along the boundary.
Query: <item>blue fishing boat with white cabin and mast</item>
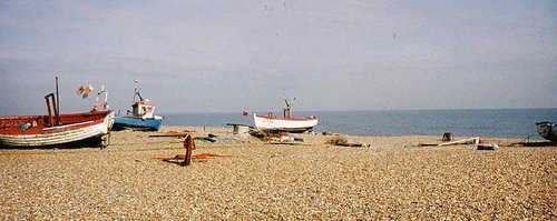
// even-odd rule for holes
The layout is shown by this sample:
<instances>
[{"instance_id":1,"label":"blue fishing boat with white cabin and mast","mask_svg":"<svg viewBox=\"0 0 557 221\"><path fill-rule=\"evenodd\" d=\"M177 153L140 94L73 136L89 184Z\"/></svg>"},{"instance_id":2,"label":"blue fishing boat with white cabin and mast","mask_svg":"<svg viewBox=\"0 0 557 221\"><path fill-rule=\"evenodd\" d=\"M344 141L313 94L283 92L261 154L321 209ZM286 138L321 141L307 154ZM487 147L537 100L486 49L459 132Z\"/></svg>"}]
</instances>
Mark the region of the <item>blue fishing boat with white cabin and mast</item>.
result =
<instances>
[{"instance_id":1,"label":"blue fishing boat with white cabin and mast","mask_svg":"<svg viewBox=\"0 0 557 221\"><path fill-rule=\"evenodd\" d=\"M155 115L155 103L149 102L148 99L144 99L137 90L137 80L134 93L134 104L131 104L131 111L127 111L126 115L116 117L114 120L113 130L144 130L144 131L157 131L163 123L163 117ZM136 101L136 96L139 101Z\"/></svg>"}]
</instances>

